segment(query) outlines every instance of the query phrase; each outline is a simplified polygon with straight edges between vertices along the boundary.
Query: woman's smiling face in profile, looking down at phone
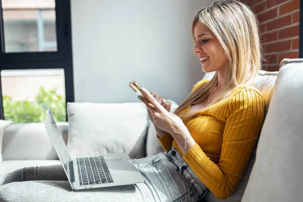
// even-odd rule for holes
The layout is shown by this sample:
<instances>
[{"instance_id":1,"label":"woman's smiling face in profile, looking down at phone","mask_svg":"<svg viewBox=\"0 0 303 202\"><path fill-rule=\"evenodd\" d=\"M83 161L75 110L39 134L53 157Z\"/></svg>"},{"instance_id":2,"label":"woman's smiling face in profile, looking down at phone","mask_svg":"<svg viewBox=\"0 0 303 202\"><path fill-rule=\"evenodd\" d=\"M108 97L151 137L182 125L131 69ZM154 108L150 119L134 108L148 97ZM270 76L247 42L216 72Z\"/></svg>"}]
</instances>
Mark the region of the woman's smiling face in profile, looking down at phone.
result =
<instances>
[{"instance_id":1,"label":"woman's smiling face in profile, looking down at phone","mask_svg":"<svg viewBox=\"0 0 303 202\"><path fill-rule=\"evenodd\" d=\"M225 71L228 58L224 49L211 30L202 23L197 23L193 30L195 46L193 53L197 54L204 72Z\"/></svg>"}]
</instances>

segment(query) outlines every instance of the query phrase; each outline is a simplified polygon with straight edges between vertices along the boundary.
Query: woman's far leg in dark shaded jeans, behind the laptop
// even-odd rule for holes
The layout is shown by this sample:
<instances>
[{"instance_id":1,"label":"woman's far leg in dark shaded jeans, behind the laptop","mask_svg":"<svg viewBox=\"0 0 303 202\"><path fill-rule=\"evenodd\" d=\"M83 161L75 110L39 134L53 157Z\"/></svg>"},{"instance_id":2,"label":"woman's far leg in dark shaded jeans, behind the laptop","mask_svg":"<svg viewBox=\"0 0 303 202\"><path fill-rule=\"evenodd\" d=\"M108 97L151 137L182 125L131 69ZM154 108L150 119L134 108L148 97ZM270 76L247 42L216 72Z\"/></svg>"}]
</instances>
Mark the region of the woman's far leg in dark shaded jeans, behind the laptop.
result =
<instances>
[{"instance_id":1,"label":"woman's far leg in dark shaded jeans, behind the laptop","mask_svg":"<svg viewBox=\"0 0 303 202\"><path fill-rule=\"evenodd\" d=\"M68 179L62 165L59 164L53 166L28 167L15 170L6 174L6 179L3 180L2 184L30 180L67 181Z\"/></svg>"}]
</instances>

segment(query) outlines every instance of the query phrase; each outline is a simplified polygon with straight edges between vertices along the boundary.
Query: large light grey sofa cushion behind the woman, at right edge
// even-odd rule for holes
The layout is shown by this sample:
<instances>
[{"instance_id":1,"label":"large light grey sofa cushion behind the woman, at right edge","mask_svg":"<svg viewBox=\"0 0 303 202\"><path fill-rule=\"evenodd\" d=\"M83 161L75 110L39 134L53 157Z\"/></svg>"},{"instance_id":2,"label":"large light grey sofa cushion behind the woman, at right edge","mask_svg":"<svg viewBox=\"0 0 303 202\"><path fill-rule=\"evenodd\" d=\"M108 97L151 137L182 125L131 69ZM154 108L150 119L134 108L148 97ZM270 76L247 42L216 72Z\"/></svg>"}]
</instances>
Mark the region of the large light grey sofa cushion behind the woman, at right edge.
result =
<instances>
[{"instance_id":1,"label":"large light grey sofa cushion behind the woman, at right edge","mask_svg":"<svg viewBox=\"0 0 303 202\"><path fill-rule=\"evenodd\" d=\"M303 60L283 60L242 201L303 198Z\"/></svg>"}]
</instances>

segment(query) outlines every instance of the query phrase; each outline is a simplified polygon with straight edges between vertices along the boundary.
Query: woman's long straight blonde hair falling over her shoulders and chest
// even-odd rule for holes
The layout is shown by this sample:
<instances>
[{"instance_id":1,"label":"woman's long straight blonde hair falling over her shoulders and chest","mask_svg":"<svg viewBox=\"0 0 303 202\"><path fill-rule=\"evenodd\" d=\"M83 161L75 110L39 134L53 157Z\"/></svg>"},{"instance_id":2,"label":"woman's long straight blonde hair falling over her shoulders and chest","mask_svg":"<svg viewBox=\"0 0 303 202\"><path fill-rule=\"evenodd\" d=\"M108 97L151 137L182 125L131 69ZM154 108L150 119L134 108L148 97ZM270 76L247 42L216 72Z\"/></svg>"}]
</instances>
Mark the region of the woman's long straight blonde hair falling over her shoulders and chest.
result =
<instances>
[{"instance_id":1,"label":"woman's long straight blonde hair falling over her shoulders and chest","mask_svg":"<svg viewBox=\"0 0 303 202\"><path fill-rule=\"evenodd\" d=\"M174 113L183 122L199 113L180 113L189 105L201 103L209 96L210 104L207 107L211 107L230 95L237 85L255 85L261 69L258 19L245 4L236 0L216 1L200 10L191 24L192 36L197 23L206 25L219 40L229 60L229 67L225 74L225 86L213 100L209 95L218 85L217 72L207 84L197 88L180 104Z\"/></svg>"}]
</instances>

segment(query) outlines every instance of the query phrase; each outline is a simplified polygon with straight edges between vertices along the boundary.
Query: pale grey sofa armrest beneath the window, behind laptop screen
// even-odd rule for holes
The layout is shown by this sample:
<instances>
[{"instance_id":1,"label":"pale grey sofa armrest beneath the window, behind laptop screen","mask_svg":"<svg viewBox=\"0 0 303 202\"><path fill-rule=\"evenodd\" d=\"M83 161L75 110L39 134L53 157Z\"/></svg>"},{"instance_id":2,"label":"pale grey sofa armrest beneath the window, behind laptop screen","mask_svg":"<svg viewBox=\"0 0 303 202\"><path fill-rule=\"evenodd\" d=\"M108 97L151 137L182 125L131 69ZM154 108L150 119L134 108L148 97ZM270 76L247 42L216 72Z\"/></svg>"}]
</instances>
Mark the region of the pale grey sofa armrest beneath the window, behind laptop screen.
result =
<instances>
[{"instance_id":1,"label":"pale grey sofa armrest beneath the window, behind laptop screen","mask_svg":"<svg viewBox=\"0 0 303 202\"><path fill-rule=\"evenodd\" d=\"M57 123L65 143L68 123ZM19 123L8 126L3 135L3 160L58 160L44 123Z\"/></svg>"}]
</instances>

